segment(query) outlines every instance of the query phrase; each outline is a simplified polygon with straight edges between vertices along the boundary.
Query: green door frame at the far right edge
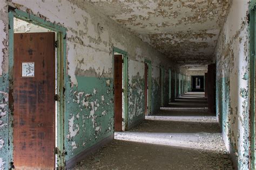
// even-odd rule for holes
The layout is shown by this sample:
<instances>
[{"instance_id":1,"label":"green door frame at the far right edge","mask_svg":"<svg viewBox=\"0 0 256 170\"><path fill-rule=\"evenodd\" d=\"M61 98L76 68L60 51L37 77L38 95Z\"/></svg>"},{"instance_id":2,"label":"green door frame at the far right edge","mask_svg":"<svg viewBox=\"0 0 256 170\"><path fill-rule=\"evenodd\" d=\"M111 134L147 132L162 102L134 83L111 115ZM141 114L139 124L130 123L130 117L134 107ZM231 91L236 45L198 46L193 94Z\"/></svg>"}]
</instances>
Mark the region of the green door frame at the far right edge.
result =
<instances>
[{"instance_id":1,"label":"green door frame at the far right edge","mask_svg":"<svg viewBox=\"0 0 256 170\"><path fill-rule=\"evenodd\" d=\"M255 169L255 49L256 2L250 2L250 169Z\"/></svg>"}]
</instances>

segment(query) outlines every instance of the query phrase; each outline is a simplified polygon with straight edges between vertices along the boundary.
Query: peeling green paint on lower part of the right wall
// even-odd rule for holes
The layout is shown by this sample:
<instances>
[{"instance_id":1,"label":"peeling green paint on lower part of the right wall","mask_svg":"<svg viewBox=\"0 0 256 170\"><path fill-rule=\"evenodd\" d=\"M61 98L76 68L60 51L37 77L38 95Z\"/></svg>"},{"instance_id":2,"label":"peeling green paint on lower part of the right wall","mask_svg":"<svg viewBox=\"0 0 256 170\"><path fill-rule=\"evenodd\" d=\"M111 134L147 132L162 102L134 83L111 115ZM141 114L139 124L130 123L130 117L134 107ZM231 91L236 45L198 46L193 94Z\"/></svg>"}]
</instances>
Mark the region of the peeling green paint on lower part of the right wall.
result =
<instances>
[{"instance_id":1,"label":"peeling green paint on lower part of the right wall","mask_svg":"<svg viewBox=\"0 0 256 170\"><path fill-rule=\"evenodd\" d=\"M216 104L217 104L217 117L221 124L221 129L223 132L224 140L228 141L231 148L231 153L236 157L235 159L238 162L238 169L247 169L249 164L249 143L248 140L250 137L249 133L249 119L248 119L248 95L247 90L244 88L240 89L240 96L244 98L242 101L242 112L241 112L241 127L240 130L243 130L242 136L239 134L234 135L234 131L231 131L231 126L234 122L231 122L231 119L235 119L237 116L238 110L233 110L231 108L231 98L230 98L230 79L229 77L223 77L217 80L216 84ZM231 118L232 117L232 118ZM239 131L238 131L239 132ZM239 139L237 139L239 138ZM244 151L240 153L238 145L235 144L236 140L240 140L241 147Z\"/></svg>"}]
</instances>

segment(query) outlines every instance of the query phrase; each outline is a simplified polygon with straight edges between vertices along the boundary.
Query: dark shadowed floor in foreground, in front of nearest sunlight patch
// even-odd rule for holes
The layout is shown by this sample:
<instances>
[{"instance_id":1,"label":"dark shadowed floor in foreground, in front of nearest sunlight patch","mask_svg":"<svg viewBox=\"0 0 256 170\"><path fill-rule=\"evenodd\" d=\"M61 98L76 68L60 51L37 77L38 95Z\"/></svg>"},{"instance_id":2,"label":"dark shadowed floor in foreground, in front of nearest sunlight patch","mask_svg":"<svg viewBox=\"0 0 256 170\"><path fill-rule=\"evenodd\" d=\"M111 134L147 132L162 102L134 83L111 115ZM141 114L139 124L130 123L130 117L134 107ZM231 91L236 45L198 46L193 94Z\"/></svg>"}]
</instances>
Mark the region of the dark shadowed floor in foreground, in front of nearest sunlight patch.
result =
<instances>
[{"instance_id":1,"label":"dark shadowed floor in foreground, in front of nearest sunlight patch","mask_svg":"<svg viewBox=\"0 0 256 170\"><path fill-rule=\"evenodd\" d=\"M74 169L232 169L225 152L114 140Z\"/></svg>"}]
</instances>

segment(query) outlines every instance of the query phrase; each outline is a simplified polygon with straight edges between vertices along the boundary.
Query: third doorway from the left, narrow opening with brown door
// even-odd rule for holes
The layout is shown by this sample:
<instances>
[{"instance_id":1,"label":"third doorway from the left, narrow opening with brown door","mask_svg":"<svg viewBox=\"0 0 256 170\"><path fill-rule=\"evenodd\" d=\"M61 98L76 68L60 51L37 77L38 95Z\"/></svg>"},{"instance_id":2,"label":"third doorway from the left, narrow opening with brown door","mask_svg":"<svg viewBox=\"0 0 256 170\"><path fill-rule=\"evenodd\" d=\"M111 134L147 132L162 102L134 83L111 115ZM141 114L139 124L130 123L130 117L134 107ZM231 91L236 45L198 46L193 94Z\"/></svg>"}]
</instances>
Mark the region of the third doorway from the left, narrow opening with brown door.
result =
<instances>
[{"instance_id":1,"label":"third doorway from the left, narrow opening with brown door","mask_svg":"<svg viewBox=\"0 0 256 170\"><path fill-rule=\"evenodd\" d=\"M151 61L145 60L145 73L144 73L144 115L151 115Z\"/></svg>"}]
</instances>

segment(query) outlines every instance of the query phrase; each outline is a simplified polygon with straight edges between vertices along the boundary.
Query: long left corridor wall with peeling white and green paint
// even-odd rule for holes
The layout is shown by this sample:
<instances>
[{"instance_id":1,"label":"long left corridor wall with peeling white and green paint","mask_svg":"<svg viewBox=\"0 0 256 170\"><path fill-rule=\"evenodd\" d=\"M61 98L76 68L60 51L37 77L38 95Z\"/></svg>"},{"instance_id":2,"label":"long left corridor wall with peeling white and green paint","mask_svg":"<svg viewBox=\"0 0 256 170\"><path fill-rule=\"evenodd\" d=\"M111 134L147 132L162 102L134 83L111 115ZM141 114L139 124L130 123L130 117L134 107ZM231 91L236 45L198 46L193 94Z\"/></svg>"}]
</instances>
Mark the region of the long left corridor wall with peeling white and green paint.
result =
<instances>
[{"instance_id":1,"label":"long left corridor wall with peeling white and green paint","mask_svg":"<svg viewBox=\"0 0 256 170\"><path fill-rule=\"evenodd\" d=\"M73 2L0 0L0 167L8 167L7 5L66 28L66 160L113 134L113 46L128 53L128 127L144 119L145 58L152 61L152 114L159 111L159 66L167 70L169 58L89 3Z\"/></svg>"}]
</instances>

